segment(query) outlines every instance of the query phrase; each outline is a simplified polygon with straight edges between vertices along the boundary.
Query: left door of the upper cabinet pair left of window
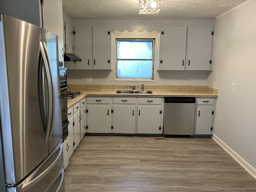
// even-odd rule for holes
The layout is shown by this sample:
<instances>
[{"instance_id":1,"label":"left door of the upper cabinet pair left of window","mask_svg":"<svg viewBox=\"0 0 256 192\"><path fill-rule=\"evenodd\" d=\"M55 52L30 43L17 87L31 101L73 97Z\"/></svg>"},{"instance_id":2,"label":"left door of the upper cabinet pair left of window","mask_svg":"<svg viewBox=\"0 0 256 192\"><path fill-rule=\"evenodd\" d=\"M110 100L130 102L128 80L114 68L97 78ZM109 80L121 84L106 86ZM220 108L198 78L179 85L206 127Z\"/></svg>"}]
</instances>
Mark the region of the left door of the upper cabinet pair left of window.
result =
<instances>
[{"instance_id":1,"label":"left door of the upper cabinet pair left of window","mask_svg":"<svg viewBox=\"0 0 256 192\"><path fill-rule=\"evenodd\" d=\"M76 62L76 69L91 69L91 27L75 26L75 54L82 59Z\"/></svg>"}]
</instances>

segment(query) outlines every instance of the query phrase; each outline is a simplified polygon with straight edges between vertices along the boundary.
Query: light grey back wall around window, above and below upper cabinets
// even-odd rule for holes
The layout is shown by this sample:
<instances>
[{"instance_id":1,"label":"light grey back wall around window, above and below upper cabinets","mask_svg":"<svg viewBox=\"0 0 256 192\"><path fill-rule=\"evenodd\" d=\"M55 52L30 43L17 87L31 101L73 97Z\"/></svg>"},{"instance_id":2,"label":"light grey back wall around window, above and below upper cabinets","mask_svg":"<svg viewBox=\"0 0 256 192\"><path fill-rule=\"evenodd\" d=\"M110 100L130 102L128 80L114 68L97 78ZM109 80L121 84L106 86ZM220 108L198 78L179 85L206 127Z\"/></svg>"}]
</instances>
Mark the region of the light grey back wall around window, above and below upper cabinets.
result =
<instances>
[{"instance_id":1,"label":"light grey back wall around window, above and below upper cabinets","mask_svg":"<svg viewBox=\"0 0 256 192\"><path fill-rule=\"evenodd\" d=\"M215 26L215 19L74 19L73 24L74 26L109 26L111 32L115 30L160 32L163 26ZM145 82L115 81L115 66L113 70L68 70L67 77L69 84L206 85L209 74L207 71L157 71L156 68L157 66L154 66L154 81ZM87 83L86 77L92 77L93 82Z\"/></svg>"}]
</instances>

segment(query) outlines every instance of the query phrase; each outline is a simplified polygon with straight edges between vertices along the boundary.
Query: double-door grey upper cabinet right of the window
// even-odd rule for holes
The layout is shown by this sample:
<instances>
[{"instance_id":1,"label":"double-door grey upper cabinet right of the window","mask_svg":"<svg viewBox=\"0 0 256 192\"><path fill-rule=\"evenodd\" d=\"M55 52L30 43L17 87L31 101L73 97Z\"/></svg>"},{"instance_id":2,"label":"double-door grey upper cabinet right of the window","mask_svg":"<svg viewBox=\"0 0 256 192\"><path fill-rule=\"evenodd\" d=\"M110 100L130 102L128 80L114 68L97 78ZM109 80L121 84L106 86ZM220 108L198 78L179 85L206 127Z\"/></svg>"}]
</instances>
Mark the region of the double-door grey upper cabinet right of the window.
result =
<instances>
[{"instance_id":1,"label":"double-door grey upper cabinet right of the window","mask_svg":"<svg viewBox=\"0 0 256 192\"><path fill-rule=\"evenodd\" d=\"M158 70L212 70L213 27L163 27Z\"/></svg>"}]
</instances>

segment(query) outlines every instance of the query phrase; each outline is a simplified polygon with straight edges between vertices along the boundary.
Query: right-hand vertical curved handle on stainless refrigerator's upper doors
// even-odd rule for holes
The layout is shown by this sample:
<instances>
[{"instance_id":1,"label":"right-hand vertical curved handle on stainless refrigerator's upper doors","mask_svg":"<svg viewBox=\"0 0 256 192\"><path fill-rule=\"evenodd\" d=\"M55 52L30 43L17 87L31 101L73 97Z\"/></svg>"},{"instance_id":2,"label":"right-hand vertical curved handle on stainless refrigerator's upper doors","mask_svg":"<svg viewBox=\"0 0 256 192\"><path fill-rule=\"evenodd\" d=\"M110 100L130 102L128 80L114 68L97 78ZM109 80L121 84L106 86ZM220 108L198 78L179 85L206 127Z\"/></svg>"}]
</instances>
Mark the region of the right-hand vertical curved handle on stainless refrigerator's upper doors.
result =
<instances>
[{"instance_id":1,"label":"right-hand vertical curved handle on stainless refrigerator's upper doors","mask_svg":"<svg viewBox=\"0 0 256 192\"><path fill-rule=\"evenodd\" d=\"M52 69L51 69L51 65L50 65L50 57L49 57L49 54L48 54L48 51L47 51L47 47L46 47L46 44L44 42L43 44L44 46L44 50L45 50L45 55L46 55L46 59L47 59L47 64L48 64L48 72L49 72L49 75L50 75L50 82L51 82L51 98L52 98L52 101L51 101L51 104L52 104L52 111L51 111L51 120L50 120L50 130L49 130L49 141L51 140L51 137L52 137L52 127L53 127L53 122L54 122L54 114L55 114L55 88L54 88L54 81L53 81L53 78L52 78Z\"/></svg>"}]
</instances>

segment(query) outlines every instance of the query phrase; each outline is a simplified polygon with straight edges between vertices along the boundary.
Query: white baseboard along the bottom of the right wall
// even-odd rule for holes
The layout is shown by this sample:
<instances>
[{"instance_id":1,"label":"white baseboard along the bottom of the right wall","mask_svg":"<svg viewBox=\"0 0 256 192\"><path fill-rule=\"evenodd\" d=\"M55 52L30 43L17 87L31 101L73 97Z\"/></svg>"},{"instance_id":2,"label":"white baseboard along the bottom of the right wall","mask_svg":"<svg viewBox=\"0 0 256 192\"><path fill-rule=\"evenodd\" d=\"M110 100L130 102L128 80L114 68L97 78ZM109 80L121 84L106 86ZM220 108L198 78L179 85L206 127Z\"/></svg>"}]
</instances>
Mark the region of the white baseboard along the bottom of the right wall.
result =
<instances>
[{"instance_id":1,"label":"white baseboard along the bottom of the right wall","mask_svg":"<svg viewBox=\"0 0 256 192\"><path fill-rule=\"evenodd\" d=\"M233 157L252 177L256 179L256 169L253 168L247 161L245 161L240 155L236 153L236 151L232 150L226 143L223 142L219 137L215 134L212 136L213 140L219 146L221 146L231 157Z\"/></svg>"}]
</instances>

